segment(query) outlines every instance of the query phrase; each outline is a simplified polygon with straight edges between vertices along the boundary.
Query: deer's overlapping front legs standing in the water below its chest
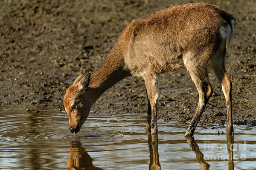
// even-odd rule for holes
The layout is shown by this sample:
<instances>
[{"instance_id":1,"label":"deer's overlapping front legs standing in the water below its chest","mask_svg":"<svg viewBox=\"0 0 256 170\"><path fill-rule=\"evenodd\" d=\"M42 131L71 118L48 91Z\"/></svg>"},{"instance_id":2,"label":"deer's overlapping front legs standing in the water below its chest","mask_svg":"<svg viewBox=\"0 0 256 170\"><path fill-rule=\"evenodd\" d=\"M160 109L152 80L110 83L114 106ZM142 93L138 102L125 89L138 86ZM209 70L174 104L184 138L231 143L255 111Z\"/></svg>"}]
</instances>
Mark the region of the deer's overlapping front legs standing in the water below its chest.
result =
<instances>
[{"instance_id":1,"label":"deer's overlapping front legs standing in the water below its chest","mask_svg":"<svg viewBox=\"0 0 256 170\"><path fill-rule=\"evenodd\" d=\"M143 78L149 101L146 129L148 133L157 134L158 77L156 75L145 75Z\"/></svg>"}]
</instances>

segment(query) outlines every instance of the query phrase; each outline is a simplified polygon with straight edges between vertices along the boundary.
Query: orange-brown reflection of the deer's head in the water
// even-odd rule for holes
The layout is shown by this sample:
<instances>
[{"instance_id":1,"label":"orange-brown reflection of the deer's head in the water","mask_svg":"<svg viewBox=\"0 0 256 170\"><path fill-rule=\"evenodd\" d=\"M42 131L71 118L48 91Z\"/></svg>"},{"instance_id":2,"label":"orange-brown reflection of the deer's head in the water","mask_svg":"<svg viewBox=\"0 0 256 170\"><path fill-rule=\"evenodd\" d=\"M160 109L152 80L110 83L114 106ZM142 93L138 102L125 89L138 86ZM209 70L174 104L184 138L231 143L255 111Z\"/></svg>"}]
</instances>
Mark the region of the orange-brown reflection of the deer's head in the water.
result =
<instances>
[{"instance_id":1,"label":"orange-brown reflection of the deer's head in the water","mask_svg":"<svg viewBox=\"0 0 256 170\"><path fill-rule=\"evenodd\" d=\"M93 166L93 159L82 147L80 141L70 142L70 158L67 159L67 170L103 170Z\"/></svg>"}]
</instances>

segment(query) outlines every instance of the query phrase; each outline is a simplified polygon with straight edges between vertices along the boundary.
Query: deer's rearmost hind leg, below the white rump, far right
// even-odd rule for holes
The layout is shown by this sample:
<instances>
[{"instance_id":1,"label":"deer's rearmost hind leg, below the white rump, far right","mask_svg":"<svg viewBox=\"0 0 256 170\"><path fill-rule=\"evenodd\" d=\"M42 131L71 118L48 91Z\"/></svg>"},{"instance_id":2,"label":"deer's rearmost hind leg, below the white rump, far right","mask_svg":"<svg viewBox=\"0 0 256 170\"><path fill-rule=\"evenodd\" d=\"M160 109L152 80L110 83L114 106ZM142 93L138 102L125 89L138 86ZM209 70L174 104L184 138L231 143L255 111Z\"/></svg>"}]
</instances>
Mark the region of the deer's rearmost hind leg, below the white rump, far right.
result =
<instances>
[{"instance_id":1,"label":"deer's rearmost hind leg, below the white rump, far right","mask_svg":"<svg viewBox=\"0 0 256 170\"><path fill-rule=\"evenodd\" d=\"M226 55L226 50L221 50L219 52L218 56L216 56L212 60L212 69L214 71L214 74L218 80L218 82L221 83L222 91L225 96L226 105L227 105L227 130L226 134L232 134L234 133L233 130L233 120L232 120L232 82L230 78L228 77L225 65L224 65L224 57Z\"/></svg>"}]
</instances>

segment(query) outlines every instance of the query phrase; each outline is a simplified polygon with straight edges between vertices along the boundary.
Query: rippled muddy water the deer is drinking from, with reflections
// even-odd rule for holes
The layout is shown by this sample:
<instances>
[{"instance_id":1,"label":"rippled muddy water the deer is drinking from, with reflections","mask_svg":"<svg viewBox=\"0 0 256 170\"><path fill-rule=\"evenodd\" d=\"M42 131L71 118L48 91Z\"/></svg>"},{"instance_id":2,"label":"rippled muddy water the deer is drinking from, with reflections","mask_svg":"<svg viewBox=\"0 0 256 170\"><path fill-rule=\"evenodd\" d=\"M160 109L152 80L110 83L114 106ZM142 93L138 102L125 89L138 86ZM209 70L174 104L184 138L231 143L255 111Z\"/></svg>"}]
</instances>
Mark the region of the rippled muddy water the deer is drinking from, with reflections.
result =
<instances>
[{"instance_id":1,"label":"rippled muddy water the deer is drinking from, with reflections","mask_svg":"<svg viewBox=\"0 0 256 170\"><path fill-rule=\"evenodd\" d=\"M55 108L24 112L0 108L0 169L198 170L256 167L256 130L235 126L236 135L159 120L159 135L145 133L143 114L91 114L77 136L66 113ZM113 121L116 120L116 121ZM213 125L214 126L214 125Z\"/></svg>"}]
</instances>

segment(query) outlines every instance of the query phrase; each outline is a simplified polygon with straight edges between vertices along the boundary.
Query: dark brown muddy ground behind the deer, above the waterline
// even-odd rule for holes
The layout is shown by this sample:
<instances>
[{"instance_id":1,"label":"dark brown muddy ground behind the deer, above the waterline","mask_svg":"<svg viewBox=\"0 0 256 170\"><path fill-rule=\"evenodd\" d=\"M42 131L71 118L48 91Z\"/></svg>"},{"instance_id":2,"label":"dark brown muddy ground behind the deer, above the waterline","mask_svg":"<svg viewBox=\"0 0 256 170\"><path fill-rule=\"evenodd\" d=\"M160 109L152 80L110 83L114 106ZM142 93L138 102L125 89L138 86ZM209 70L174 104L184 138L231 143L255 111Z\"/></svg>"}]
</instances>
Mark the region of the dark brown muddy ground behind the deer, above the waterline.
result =
<instances>
[{"instance_id":1,"label":"dark brown muddy ground behind the deer, above the waterline","mask_svg":"<svg viewBox=\"0 0 256 170\"><path fill-rule=\"evenodd\" d=\"M66 89L79 74L95 71L121 31L134 19L194 0L2 0L0 2L0 106L28 111L55 105L63 110ZM233 81L233 122L255 125L256 1L205 0L236 18L227 56ZM210 74L214 94L201 124L223 125L226 105L221 86ZM189 122L198 93L186 71L162 74L159 119ZM145 114L142 79L125 78L102 95L92 113ZM132 115L132 114L131 114Z\"/></svg>"}]
</instances>

